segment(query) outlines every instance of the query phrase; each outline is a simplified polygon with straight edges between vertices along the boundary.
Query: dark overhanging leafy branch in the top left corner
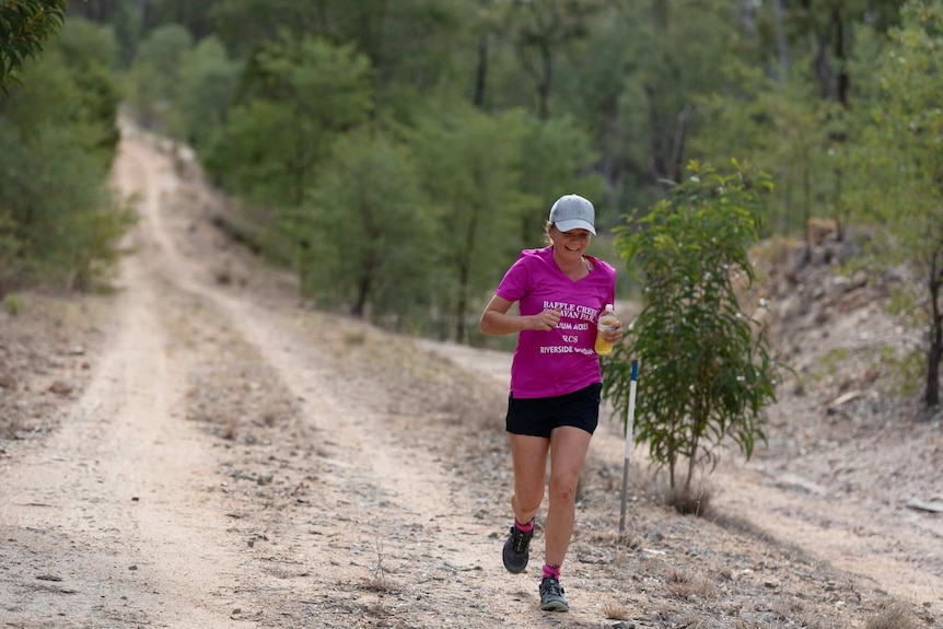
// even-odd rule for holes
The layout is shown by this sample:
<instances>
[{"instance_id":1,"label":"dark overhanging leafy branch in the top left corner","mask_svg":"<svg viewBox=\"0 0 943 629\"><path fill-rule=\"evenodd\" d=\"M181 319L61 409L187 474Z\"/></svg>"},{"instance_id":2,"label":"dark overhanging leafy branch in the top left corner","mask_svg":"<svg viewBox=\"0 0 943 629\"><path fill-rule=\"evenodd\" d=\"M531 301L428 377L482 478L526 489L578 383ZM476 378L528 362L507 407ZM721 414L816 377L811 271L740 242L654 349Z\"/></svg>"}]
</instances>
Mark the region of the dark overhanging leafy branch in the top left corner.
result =
<instances>
[{"instance_id":1,"label":"dark overhanging leafy branch in the top left corner","mask_svg":"<svg viewBox=\"0 0 943 629\"><path fill-rule=\"evenodd\" d=\"M61 26L68 0L18 0L0 4L0 93Z\"/></svg>"}]
</instances>

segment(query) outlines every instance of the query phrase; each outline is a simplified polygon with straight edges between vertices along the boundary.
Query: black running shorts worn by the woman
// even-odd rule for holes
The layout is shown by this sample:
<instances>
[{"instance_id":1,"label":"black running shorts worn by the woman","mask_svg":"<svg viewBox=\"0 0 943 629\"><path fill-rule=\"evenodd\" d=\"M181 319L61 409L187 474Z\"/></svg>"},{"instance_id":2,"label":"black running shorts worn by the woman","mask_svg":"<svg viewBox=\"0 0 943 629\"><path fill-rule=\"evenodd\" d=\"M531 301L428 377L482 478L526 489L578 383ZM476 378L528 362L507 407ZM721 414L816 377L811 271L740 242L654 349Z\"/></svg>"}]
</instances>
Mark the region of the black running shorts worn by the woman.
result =
<instances>
[{"instance_id":1,"label":"black running shorts worn by the woman","mask_svg":"<svg viewBox=\"0 0 943 629\"><path fill-rule=\"evenodd\" d=\"M559 426L572 426L590 434L599 422L603 384L591 384L580 391L556 397L508 398L504 428L513 434L550 436Z\"/></svg>"}]
</instances>

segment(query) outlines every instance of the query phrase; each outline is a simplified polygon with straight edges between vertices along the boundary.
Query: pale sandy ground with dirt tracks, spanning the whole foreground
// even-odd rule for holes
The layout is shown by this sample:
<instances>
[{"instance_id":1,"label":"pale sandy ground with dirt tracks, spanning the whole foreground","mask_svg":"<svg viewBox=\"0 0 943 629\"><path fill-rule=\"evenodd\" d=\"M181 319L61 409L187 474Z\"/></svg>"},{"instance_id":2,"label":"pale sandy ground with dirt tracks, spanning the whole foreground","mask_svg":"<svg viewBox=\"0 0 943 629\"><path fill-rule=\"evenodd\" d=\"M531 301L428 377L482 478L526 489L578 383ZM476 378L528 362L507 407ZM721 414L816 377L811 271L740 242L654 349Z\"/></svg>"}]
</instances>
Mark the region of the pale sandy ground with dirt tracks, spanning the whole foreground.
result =
<instances>
[{"instance_id":1,"label":"pale sandy ground with dirt tracks, spanning the whole foreground","mask_svg":"<svg viewBox=\"0 0 943 629\"><path fill-rule=\"evenodd\" d=\"M116 294L0 314L0 626L943 625L943 514L907 506L943 498L939 416L784 393L769 446L709 477L703 517L662 506L636 451L622 534L606 422L572 611L542 613L540 532L524 574L500 560L509 356L305 310L139 132L115 182L141 212Z\"/></svg>"}]
</instances>

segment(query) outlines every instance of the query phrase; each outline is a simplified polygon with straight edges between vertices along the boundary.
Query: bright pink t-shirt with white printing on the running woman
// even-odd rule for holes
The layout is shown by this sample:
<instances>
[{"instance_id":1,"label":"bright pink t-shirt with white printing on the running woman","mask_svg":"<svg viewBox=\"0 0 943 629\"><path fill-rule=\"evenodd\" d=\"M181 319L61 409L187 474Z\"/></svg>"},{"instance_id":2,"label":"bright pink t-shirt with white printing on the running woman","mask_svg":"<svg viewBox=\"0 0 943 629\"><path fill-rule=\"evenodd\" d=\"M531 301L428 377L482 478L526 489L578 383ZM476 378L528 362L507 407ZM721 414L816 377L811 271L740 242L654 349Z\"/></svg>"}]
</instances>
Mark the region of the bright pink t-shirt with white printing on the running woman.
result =
<instances>
[{"instance_id":1,"label":"bright pink t-shirt with white printing on the running woman","mask_svg":"<svg viewBox=\"0 0 943 629\"><path fill-rule=\"evenodd\" d=\"M616 269L586 256L593 270L581 280L567 277L554 261L552 247L525 249L504 273L496 294L517 302L522 315L559 308L560 323L549 331L522 330L511 363L515 398L555 397L601 381L596 321L616 298Z\"/></svg>"}]
</instances>

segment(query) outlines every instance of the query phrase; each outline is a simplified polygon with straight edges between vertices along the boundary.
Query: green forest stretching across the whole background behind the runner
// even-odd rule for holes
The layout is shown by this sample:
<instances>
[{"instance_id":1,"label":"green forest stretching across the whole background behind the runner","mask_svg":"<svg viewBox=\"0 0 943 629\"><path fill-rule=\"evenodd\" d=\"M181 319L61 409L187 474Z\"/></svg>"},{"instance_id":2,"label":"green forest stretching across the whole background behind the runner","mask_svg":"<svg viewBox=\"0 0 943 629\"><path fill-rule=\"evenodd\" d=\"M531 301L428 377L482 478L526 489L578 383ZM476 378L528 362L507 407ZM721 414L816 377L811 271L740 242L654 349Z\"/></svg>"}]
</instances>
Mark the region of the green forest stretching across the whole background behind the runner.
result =
<instances>
[{"instance_id":1,"label":"green forest stretching across the whole background behind the runner","mask_svg":"<svg viewBox=\"0 0 943 629\"><path fill-rule=\"evenodd\" d=\"M125 107L195 152L226 226L313 307L478 345L557 197L595 202L593 253L617 260L612 230L690 161L736 160L775 183L765 238L868 228L866 264L901 269L893 307L925 333L905 349L939 382L940 0L21 4L68 10L0 97L8 310L114 268L135 220L107 187Z\"/></svg>"}]
</instances>

